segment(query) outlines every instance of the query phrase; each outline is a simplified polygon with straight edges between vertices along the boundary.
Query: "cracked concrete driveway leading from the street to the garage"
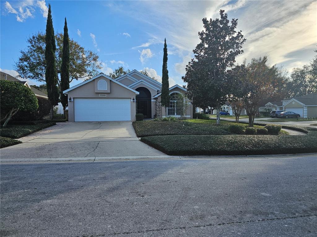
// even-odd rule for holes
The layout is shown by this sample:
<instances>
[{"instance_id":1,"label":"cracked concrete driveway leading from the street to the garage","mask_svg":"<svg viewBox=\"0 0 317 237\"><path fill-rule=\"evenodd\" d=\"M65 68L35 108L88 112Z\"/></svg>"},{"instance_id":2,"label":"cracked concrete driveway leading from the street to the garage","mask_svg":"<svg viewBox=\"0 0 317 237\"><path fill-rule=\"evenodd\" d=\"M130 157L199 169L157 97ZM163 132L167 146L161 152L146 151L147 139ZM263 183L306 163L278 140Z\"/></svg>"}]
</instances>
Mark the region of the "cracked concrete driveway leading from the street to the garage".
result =
<instances>
[{"instance_id":1,"label":"cracked concrete driveway leading from the street to the garage","mask_svg":"<svg viewBox=\"0 0 317 237\"><path fill-rule=\"evenodd\" d=\"M136 136L130 121L58 123L1 149L2 159L165 155Z\"/></svg>"}]
</instances>

